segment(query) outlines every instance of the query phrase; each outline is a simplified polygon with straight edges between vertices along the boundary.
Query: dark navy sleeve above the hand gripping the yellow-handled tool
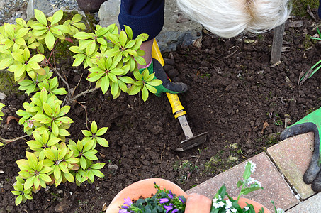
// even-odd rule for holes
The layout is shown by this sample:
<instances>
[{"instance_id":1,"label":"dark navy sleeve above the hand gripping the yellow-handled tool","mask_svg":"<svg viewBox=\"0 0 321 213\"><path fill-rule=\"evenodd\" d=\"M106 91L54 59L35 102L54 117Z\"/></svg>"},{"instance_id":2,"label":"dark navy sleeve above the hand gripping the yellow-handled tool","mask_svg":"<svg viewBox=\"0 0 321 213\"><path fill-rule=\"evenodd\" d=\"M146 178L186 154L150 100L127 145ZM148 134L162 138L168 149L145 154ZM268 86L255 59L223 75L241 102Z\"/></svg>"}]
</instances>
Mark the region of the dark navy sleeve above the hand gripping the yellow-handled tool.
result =
<instances>
[{"instance_id":1,"label":"dark navy sleeve above the hand gripping the yellow-handled tool","mask_svg":"<svg viewBox=\"0 0 321 213\"><path fill-rule=\"evenodd\" d=\"M121 0L118 16L120 28L130 26L133 38L140 33L147 33L148 40L152 40L162 31L164 6L164 0Z\"/></svg>"}]
</instances>

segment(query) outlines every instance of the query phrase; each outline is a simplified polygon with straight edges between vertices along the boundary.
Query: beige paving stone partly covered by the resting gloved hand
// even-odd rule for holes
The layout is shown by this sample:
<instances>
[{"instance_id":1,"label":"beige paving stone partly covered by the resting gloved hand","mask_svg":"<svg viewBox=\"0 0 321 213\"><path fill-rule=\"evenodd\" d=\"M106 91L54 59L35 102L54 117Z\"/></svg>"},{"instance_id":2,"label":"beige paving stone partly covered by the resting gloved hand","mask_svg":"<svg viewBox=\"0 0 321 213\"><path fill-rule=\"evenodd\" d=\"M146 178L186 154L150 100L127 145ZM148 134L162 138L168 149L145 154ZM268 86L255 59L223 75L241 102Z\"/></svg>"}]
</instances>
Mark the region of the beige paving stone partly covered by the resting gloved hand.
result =
<instances>
[{"instance_id":1,"label":"beige paving stone partly covered by the resting gloved hand","mask_svg":"<svg viewBox=\"0 0 321 213\"><path fill-rule=\"evenodd\" d=\"M303 200L315 194L311 186L303 182L312 158L313 141L314 134L310 132L287 138L267 149L267 154Z\"/></svg>"}]
</instances>

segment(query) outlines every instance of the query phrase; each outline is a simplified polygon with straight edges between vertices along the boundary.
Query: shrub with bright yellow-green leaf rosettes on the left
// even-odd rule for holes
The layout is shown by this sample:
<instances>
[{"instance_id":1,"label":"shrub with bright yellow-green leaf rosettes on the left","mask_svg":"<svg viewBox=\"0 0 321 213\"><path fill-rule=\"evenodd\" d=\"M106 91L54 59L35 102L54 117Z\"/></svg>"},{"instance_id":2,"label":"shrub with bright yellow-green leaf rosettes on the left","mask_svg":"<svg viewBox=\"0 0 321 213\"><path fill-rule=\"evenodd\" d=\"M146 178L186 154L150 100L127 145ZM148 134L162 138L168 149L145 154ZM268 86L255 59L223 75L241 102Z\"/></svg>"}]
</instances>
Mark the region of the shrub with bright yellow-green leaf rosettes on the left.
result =
<instances>
[{"instance_id":1,"label":"shrub with bright yellow-green leaf rosettes on the left","mask_svg":"<svg viewBox=\"0 0 321 213\"><path fill-rule=\"evenodd\" d=\"M74 53L73 66L89 67L86 80L96 82L96 89L100 88L103 94L110 89L113 98L121 92L134 95L142 91L142 99L146 101L149 92L157 92L154 86L162 84L153 80L154 74L149 75L147 70L140 74L137 69L137 63L146 64L140 45L148 35L133 39L128 26L118 33L115 24L107 28L96 25L96 30L90 33L84 31L86 26L79 14L63 23L62 18L62 11L46 18L43 12L35 10L35 20L26 22L17 18L16 24L5 23L0 27L0 70L13 72L19 89L31 96L30 102L23 103L23 109L16 112L21 116L19 124L32 138L26 142L27 159L16 161L20 172L12 193L17 195L17 205L32 199L32 192L46 185L58 186L68 181L80 186L85 181L94 182L95 176L104 176L100 170L105 164L95 163L98 160L95 148L97 143L108 147L108 141L101 137L107 127L98 129L92 121L90 130L82 131L83 139L76 143L67 138L70 136L67 129L73 123L67 116L68 104L88 91L71 98L68 82L51 62L59 43L74 44L69 48ZM56 77L52 77L54 72ZM134 78L128 75L130 72ZM67 89L59 87L58 77ZM64 102L58 97L62 95ZM0 117L2 107L0 104Z\"/></svg>"}]
</instances>

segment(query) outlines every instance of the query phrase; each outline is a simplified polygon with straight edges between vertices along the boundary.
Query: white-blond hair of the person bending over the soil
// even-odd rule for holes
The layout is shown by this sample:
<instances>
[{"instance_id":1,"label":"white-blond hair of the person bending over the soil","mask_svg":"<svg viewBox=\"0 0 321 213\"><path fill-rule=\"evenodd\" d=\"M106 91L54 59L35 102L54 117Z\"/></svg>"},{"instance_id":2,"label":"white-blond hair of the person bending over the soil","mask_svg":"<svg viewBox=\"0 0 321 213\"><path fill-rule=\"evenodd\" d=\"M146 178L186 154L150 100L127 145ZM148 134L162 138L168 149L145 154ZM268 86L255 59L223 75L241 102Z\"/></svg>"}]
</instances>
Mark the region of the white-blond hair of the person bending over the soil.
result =
<instances>
[{"instance_id":1,"label":"white-blond hair of the person bending over the soil","mask_svg":"<svg viewBox=\"0 0 321 213\"><path fill-rule=\"evenodd\" d=\"M177 0L177 4L223 38L269 31L284 23L291 12L288 0Z\"/></svg>"}]
</instances>

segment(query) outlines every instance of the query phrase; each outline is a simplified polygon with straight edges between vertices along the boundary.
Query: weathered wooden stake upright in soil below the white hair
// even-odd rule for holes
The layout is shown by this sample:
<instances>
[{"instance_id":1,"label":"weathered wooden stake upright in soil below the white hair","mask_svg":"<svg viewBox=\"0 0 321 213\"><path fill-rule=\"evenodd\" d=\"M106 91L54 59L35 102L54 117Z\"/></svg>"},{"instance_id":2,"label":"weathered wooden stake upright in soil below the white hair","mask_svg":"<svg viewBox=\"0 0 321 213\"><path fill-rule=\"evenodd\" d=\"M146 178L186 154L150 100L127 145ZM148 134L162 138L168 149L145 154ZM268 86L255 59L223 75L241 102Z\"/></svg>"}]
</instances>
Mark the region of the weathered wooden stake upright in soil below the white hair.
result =
<instances>
[{"instance_id":1,"label":"weathered wooden stake upright in soil below the white hair","mask_svg":"<svg viewBox=\"0 0 321 213\"><path fill-rule=\"evenodd\" d=\"M275 64L281 59L281 50L283 43L283 33L286 23L281 24L274 28L273 43L272 43L272 53L271 53L271 64Z\"/></svg>"}]
</instances>

